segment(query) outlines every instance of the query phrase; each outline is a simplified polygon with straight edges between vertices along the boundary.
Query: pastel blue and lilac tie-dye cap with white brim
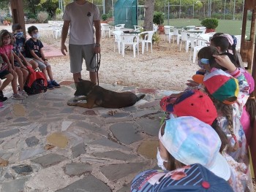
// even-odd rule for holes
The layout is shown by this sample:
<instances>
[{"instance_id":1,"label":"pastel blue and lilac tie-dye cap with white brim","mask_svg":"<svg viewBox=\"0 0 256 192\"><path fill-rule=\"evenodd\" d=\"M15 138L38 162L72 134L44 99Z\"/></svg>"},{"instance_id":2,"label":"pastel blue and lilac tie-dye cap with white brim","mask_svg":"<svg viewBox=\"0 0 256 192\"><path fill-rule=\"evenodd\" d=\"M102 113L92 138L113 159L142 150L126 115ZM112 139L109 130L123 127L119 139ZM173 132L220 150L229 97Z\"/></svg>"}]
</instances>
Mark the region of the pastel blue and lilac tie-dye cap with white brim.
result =
<instances>
[{"instance_id":1,"label":"pastel blue and lilac tie-dye cap with white brim","mask_svg":"<svg viewBox=\"0 0 256 192\"><path fill-rule=\"evenodd\" d=\"M219 153L222 142L214 128L194 117L170 118L165 134L159 130L159 141L182 164L201 164L225 180L230 179L230 166Z\"/></svg>"}]
</instances>

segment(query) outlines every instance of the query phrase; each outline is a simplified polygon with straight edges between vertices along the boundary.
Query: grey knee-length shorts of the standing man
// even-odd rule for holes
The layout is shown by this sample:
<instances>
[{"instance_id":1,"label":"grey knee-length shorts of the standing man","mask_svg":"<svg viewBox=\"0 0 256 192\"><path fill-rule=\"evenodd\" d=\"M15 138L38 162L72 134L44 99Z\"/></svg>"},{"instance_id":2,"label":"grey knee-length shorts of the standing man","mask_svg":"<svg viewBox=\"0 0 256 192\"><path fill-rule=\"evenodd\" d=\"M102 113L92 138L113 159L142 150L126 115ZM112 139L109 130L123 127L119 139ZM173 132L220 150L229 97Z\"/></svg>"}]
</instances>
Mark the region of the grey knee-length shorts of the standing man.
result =
<instances>
[{"instance_id":1,"label":"grey knee-length shorts of the standing man","mask_svg":"<svg viewBox=\"0 0 256 192\"><path fill-rule=\"evenodd\" d=\"M82 71L83 59L86 61L86 70L95 72L96 59L94 55L94 46L94 44L69 44L70 72L80 73Z\"/></svg>"}]
</instances>

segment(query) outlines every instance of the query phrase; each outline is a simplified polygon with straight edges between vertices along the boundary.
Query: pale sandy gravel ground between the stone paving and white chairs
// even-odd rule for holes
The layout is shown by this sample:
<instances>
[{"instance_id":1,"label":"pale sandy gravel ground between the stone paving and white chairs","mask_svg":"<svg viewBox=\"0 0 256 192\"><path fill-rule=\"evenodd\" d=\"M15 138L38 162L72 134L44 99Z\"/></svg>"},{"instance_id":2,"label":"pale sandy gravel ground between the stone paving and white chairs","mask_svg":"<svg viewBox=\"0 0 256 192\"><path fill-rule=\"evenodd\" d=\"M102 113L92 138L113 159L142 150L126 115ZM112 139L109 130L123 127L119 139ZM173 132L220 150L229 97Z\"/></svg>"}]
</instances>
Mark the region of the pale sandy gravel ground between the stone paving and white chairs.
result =
<instances>
[{"instance_id":1,"label":"pale sandy gravel ground between the stone paving and white chairs","mask_svg":"<svg viewBox=\"0 0 256 192\"><path fill-rule=\"evenodd\" d=\"M60 49L60 39L54 39L49 33L42 34L42 42ZM144 55L133 58L133 52L127 50L124 57L114 52L114 39L102 38L101 63L99 82L118 85L136 86L140 88L158 88L173 91L183 91L187 80L198 69L196 64L189 61L189 53L185 53L184 45L179 46L164 41L161 35L159 45L153 45ZM69 72L69 56L50 58L56 80L72 80ZM84 64L82 77L89 79Z\"/></svg>"}]
</instances>

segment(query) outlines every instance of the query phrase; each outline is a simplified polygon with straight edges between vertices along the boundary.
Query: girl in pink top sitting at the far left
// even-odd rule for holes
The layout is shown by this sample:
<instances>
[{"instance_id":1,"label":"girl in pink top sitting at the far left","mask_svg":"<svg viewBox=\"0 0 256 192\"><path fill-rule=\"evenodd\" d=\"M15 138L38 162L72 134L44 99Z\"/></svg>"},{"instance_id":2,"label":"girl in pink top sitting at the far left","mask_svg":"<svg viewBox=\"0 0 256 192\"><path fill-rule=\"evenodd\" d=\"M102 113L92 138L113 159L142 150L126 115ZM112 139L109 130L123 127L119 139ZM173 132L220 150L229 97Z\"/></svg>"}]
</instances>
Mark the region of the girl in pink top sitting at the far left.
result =
<instances>
[{"instance_id":1,"label":"girl in pink top sitting at the far left","mask_svg":"<svg viewBox=\"0 0 256 192\"><path fill-rule=\"evenodd\" d=\"M13 95L12 99L25 99L26 92L23 90L24 86L24 80L23 80L23 72L20 69L19 66L15 66L14 64L14 56L12 53L12 34L3 29L0 31L0 54L1 57L4 59L4 62L7 63L9 72L12 74L13 79L12 79L12 90L13 90ZM17 77L18 77L18 82L20 85L20 91L17 90Z\"/></svg>"}]
</instances>

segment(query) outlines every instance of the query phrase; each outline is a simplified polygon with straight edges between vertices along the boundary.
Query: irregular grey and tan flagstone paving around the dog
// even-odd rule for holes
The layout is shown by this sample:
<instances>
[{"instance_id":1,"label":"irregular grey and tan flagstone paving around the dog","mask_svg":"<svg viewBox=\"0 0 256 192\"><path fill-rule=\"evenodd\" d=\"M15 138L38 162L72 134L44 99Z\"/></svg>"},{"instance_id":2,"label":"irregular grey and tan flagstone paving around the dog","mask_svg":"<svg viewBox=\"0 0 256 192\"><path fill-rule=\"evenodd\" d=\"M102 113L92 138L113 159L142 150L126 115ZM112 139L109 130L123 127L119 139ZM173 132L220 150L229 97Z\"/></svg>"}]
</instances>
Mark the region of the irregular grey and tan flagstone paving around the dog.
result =
<instances>
[{"instance_id":1,"label":"irregular grey and tan flagstone paving around the dog","mask_svg":"<svg viewBox=\"0 0 256 192\"><path fill-rule=\"evenodd\" d=\"M176 91L100 84L112 91L146 93L122 109L67 106L72 82L8 99L0 109L1 192L129 191L136 174L157 166L162 96Z\"/></svg>"}]
</instances>

